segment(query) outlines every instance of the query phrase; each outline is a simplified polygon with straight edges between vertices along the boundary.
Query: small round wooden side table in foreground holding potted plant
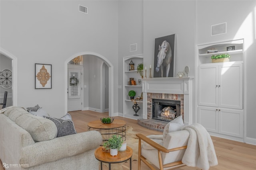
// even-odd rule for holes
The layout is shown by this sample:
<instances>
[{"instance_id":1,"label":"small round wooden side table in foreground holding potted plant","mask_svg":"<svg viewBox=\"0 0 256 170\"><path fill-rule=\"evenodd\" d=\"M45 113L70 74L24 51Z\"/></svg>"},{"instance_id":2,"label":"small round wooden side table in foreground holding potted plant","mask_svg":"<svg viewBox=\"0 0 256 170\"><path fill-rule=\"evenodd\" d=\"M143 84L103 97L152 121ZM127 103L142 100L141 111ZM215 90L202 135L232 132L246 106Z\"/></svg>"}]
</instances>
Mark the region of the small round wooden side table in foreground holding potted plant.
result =
<instances>
[{"instance_id":1,"label":"small round wooden side table in foreground holding potted plant","mask_svg":"<svg viewBox=\"0 0 256 170\"><path fill-rule=\"evenodd\" d=\"M130 147L126 147L125 151L118 151L116 156L111 156L109 152L103 152L102 147L98 147L94 156L97 160L100 161L100 169L102 170L102 162L108 163L108 169L111 170L112 163L120 163L125 162L130 159L130 170L132 170L132 149Z\"/></svg>"}]
</instances>

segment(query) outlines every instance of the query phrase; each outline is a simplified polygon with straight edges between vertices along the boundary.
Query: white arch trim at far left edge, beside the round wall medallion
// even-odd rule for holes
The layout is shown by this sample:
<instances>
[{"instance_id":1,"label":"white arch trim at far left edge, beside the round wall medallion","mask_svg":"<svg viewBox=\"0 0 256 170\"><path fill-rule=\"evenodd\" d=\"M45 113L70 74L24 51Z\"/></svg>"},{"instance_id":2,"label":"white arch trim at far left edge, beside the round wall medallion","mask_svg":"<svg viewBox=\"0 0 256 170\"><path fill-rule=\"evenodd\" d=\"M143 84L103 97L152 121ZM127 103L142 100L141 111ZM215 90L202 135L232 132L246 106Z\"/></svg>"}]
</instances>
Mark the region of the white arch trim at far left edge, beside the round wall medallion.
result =
<instances>
[{"instance_id":1,"label":"white arch trim at far left edge, beside the round wall medallion","mask_svg":"<svg viewBox=\"0 0 256 170\"><path fill-rule=\"evenodd\" d=\"M13 106L18 106L18 87L17 87L17 63L18 63L18 59L17 57L15 57L14 55L12 55L11 53L9 53L8 51L4 50L4 49L0 49L0 53L2 55L5 55L6 57L9 57L10 59L12 59L12 105Z\"/></svg>"}]
</instances>

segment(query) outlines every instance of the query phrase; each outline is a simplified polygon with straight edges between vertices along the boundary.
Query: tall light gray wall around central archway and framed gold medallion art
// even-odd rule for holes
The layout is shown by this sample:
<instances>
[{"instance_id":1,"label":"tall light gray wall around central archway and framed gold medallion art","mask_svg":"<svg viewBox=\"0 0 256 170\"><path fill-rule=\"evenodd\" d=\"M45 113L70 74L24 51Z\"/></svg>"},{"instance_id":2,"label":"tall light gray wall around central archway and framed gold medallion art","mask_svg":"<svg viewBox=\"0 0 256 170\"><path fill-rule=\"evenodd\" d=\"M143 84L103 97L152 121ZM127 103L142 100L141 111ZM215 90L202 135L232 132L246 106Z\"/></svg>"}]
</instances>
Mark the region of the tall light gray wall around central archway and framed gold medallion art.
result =
<instances>
[{"instance_id":1,"label":"tall light gray wall around central archway and framed gold medallion art","mask_svg":"<svg viewBox=\"0 0 256 170\"><path fill-rule=\"evenodd\" d=\"M117 90L117 1L0 3L1 48L18 58L19 106L39 104L54 117L64 115L64 62L86 51L112 63ZM88 7L88 14L78 12L79 4ZM34 89L35 63L52 64L52 89Z\"/></svg>"}]
</instances>

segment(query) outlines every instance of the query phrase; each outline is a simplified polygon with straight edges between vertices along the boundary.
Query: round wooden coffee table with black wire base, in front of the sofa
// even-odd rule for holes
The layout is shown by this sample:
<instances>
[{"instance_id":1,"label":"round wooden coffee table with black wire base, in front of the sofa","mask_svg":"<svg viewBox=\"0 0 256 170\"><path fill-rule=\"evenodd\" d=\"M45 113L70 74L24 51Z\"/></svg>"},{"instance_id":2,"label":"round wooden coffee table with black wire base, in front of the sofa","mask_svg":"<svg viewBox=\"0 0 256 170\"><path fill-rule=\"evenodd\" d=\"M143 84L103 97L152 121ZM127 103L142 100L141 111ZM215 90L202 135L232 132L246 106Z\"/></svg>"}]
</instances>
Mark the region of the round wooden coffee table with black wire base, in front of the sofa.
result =
<instances>
[{"instance_id":1,"label":"round wooden coffee table with black wire base, in front of the sofa","mask_svg":"<svg viewBox=\"0 0 256 170\"><path fill-rule=\"evenodd\" d=\"M91 121L88 123L88 131L99 131L102 141L108 141L112 135L119 135L122 140L126 140L126 122L119 119L114 119L110 124L104 124L100 120Z\"/></svg>"}]
</instances>

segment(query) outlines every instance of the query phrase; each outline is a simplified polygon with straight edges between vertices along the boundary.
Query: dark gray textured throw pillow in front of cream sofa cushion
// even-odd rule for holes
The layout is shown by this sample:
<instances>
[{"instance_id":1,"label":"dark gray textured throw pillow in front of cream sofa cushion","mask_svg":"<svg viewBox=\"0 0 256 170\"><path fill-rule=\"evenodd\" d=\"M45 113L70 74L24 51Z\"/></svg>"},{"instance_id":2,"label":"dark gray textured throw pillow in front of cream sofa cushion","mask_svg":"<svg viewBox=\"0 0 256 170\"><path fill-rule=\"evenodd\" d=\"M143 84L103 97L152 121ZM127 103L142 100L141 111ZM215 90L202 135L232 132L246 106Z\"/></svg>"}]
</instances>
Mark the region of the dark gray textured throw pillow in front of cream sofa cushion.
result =
<instances>
[{"instance_id":1,"label":"dark gray textured throw pillow in front of cream sofa cushion","mask_svg":"<svg viewBox=\"0 0 256 170\"><path fill-rule=\"evenodd\" d=\"M50 119L55 123L58 129L57 137L76 134L76 129L74 127L74 123L72 120L62 120L62 119L57 119L57 118L48 117L48 116L44 116L44 118Z\"/></svg>"}]
</instances>

